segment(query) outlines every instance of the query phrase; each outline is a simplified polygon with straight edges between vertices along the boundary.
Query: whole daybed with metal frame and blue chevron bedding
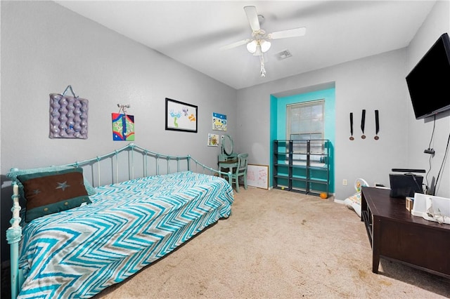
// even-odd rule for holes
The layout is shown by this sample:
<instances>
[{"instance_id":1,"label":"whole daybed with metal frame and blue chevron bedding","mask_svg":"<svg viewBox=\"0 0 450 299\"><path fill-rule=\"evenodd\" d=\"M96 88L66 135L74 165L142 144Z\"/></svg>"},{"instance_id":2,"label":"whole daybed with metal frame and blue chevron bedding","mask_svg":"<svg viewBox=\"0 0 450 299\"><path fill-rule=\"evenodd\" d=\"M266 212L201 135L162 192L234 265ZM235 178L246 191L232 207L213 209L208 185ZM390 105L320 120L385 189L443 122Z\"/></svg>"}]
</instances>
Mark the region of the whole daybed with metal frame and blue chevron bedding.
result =
<instances>
[{"instance_id":1,"label":"whole daybed with metal frame and blue chevron bedding","mask_svg":"<svg viewBox=\"0 0 450 299\"><path fill-rule=\"evenodd\" d=\"M8 177L13 298L91 298L228 218L233 204L229 173L134 144ZM52 184L57 191L44 196ZM36 206L72 189L81 191Z\"/></svg>"}]
</instances>

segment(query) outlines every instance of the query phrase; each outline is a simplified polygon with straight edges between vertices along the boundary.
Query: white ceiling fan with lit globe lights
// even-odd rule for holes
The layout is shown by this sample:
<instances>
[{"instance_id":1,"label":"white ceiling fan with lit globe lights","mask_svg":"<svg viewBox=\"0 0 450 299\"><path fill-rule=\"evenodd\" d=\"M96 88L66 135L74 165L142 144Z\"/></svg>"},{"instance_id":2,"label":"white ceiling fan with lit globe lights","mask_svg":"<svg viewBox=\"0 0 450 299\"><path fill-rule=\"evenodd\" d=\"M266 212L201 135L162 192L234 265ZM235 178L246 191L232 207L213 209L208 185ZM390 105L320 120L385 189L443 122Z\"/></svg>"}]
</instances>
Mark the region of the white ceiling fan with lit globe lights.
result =
<instances>
[{"instance_id":1,"label":"white ceiling fan with lit globe lights","mask_svg":"<svg viewBox=\"0 0 450 299\"><path fill-rule=\"evenodd\" d=\"M264 53L269 51L271 46L270 39L285 39L288 37L304 36L307 29L306 27L299 27L294 29L287 29L277 32L266 34L259 25L259 15L255 6L244 6L245 14L247 15L248 22L252 28L252 38L243 39L242 41L236 41L233 44L229 44L221 47L221 50L228 50L247 44L247 50L255 56L259 56L261 62L261 77L266 77L266 69L264 68ZM262 16L261 16L262 17ZM262 17L264 18L264 17Z\"/></svg>"}]
</instances>

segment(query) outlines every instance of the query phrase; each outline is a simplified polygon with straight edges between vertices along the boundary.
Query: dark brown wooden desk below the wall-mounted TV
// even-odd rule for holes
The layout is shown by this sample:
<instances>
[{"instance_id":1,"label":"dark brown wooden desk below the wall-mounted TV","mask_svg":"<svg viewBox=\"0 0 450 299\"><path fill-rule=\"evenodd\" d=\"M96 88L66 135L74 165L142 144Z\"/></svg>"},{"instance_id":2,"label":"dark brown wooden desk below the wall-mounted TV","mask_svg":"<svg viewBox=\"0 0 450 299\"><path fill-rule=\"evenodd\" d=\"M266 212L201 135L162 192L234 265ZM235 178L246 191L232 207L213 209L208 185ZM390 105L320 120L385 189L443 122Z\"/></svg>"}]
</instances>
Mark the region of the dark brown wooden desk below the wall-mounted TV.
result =
<instances>
[{"instance_id":1,"label":"dark brown wooden desk below the wall-mounted TV","mask_svg":"<svg viewBox=\"0 0 450 299\"><path fill-rule=\"evenodd\" d=\"M380 257L450 278L450 225L411 215L390 190L362 187L361 221L371 242L372 272Z\"/></svg>"}]
</instances>

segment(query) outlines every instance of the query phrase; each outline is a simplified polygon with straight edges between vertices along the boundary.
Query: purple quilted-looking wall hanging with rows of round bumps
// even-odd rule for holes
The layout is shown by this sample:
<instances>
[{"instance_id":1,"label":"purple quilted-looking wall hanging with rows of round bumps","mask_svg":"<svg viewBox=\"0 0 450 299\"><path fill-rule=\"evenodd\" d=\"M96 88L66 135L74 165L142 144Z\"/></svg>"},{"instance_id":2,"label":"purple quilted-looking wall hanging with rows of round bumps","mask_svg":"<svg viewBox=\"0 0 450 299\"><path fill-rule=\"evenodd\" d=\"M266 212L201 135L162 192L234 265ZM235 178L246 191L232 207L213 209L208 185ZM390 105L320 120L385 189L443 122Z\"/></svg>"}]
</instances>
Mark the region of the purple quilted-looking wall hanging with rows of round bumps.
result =
<instances>
[{"instance_id":1,"label":"purple quilted-looking wall hanging with rows of round bumps","mask_svg":"<svg viewBox=\"0 0 450 299\"><path fill-rule=\"evenodd\" d=\"M72 87L68 86L70 91ZM87 139L87 112L89 101L64 93L50 94L50 138Z\"/></svg>"}]
</instances>

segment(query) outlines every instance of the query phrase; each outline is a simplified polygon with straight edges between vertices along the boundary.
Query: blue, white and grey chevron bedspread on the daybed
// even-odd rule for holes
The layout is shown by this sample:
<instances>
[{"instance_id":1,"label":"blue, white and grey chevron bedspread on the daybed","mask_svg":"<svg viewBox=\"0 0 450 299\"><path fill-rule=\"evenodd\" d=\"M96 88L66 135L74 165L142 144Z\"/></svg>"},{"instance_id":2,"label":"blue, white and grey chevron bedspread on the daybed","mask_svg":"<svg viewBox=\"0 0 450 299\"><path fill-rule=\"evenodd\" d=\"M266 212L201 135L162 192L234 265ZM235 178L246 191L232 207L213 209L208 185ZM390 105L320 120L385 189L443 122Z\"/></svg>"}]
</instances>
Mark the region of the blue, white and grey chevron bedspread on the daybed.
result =
<instances>
[{"instance_id":1,"label":"blue, white and grey chevron bedspread on the daybed","mask_svg":"<svg viewBox=\"0 0 450 299\"><path fill-rule=\"evenodd\" d=\"M231 213L226 180L185 171L96 188L92 204L28 223L19 298L90 298Z\"/></svg>"}]
</instances>

